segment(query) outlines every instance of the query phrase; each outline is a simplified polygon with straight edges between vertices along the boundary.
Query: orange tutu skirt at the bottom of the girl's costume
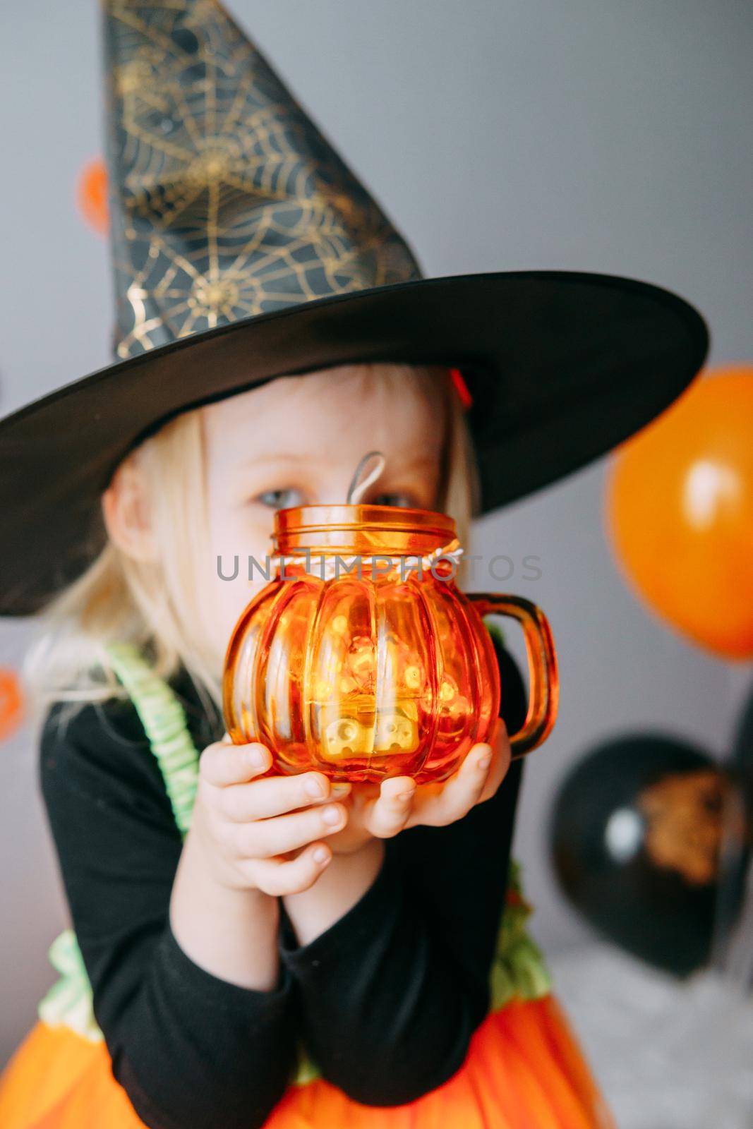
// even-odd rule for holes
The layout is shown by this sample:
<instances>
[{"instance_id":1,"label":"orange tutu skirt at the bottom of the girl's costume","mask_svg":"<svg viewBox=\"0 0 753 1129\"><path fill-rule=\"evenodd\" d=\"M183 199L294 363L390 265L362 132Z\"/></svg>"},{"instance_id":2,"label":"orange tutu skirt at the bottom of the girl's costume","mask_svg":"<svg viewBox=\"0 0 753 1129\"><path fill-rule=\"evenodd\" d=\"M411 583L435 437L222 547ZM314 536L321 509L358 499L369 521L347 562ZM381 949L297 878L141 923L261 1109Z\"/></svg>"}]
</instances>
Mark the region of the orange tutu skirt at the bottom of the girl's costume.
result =
<instances>
[{"instance_id":1,"label":"orange tutu skirt at the bottom of the girl's costume","mask_svg":"<svg viewBox=\"0 0 753 1129\"><path fill-rule=\"evenodd\" d=\"M139 1129L104 1042L38 1021L0 1077L2 1129ZM461 1069L406 1105L352 1102L321 1078L292 1085L265 1129L613 1129L552 996L487 1016ZM219 1129L219 1122L218 1122Z\"/></svg>"}]
</instances>

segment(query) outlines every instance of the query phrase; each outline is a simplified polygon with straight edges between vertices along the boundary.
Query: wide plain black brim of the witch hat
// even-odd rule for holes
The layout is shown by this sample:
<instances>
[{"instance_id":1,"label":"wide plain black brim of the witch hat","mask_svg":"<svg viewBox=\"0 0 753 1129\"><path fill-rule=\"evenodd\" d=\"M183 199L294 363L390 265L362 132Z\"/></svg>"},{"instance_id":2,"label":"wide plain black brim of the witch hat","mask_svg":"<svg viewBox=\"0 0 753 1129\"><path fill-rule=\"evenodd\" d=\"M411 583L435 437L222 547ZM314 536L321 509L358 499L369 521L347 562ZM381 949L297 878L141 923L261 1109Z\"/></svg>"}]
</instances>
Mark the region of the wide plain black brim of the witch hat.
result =
<instances>
[{"instance_id":1,"label":"wide plain black brim of the witch hat","mask_svg":"<svg viewBox=\"0 0 753 1129\"><path fill-rule=\"evenodd\" d=\"M531 271L315 299L132 357L0 421L0 614L38 611L80 575L104 545L100 497L115 467L191 408L347 362L458 367L489 511L648 423L707 348L701 316L666 290Z\"/></svg>"}]
</instances>

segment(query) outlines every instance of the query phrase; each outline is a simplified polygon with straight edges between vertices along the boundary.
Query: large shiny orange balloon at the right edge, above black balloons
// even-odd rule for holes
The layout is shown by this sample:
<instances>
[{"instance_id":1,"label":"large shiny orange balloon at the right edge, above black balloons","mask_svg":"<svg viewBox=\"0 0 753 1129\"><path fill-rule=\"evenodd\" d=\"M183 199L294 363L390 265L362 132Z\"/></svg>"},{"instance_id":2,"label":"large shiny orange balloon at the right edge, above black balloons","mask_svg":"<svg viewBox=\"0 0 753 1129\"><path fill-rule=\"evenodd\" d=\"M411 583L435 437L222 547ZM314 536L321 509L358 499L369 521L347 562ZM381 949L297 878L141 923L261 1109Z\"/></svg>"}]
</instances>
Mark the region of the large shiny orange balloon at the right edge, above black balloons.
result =
<instances>
[{"instance_id":1,"label":"large shiny orange balloon at the right edge, above black balloons","mask_svg":"<svg viewBox=\"0 0 753 1129\"><path fill-rule=\"evenodd\" d=\"M717 655L753 658L753 365L697 380L618 449L606 524L655 612Z\"/></svg>"}]
</instances>

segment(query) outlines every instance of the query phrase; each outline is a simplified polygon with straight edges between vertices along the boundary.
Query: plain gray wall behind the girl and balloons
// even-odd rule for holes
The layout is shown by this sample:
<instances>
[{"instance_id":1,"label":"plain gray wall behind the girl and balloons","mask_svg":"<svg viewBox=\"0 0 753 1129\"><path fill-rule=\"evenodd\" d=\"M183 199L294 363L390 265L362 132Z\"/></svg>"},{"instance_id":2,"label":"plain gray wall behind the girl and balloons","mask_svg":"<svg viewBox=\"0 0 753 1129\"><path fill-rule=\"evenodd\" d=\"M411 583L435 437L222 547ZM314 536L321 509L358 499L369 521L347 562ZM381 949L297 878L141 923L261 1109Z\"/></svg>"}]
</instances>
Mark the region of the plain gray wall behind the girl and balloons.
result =
<instances>
[{"instance_id":1,"label":"plain gray wall behind the girl and balloons","mask_svg":"<svg viewBox=\"0 0 753 1129\"><path fill-rule=\"evenodd\" d=\"M0 408L107 361L104 244L76 215L99 151L94 2L25 0L0 34ZM427 273L571 268L677 289L713 360L753 355L753 14L733 0L235 0L329 135L413 242ZM541 558L509 588L550 613L557 730L531 760L517 852L550 947L580 924L548 873L552 790L585 747L659 725L725 750L751 684L650 620L619 579L603 464L485 519L476 551ZM0 663L24 624L0 627ZM28 732L0 749L0 1058L51 982L64 921Z\"/></svg>"}]
</instances>

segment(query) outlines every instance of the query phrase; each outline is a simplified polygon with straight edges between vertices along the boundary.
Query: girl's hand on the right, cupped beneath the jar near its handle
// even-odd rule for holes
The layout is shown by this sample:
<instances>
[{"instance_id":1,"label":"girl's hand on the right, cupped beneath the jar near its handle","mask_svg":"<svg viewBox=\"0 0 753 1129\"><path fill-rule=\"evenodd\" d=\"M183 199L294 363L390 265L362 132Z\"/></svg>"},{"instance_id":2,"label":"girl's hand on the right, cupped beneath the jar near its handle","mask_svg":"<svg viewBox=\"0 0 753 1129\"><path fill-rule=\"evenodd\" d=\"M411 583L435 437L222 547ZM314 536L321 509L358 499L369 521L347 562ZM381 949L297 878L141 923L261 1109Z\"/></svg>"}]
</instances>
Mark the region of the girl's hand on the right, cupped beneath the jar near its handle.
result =
<instances>
[{"instance_id":1,"label":"girl's hand on the right, cupped beneath the jar near its handle","mask_svg":"<svg viewBox=\"0 0 753 1129\"><path fill-rule=\"evenodd\" d=\"M405 828L445 826L462 820L475 804L490 799L510 767L507 727L498 719L491 744L473 745L465 760L441 784L419 784L412 777L391 777L382 786L354 785L347 806L348 826L330 844L350 854L370 838L391 839Z\"/></svg>"}]
</instances>

